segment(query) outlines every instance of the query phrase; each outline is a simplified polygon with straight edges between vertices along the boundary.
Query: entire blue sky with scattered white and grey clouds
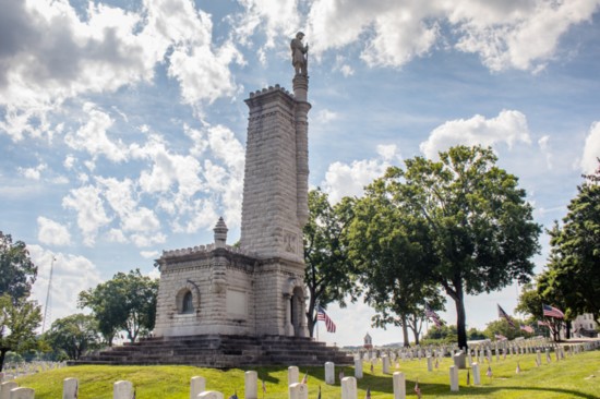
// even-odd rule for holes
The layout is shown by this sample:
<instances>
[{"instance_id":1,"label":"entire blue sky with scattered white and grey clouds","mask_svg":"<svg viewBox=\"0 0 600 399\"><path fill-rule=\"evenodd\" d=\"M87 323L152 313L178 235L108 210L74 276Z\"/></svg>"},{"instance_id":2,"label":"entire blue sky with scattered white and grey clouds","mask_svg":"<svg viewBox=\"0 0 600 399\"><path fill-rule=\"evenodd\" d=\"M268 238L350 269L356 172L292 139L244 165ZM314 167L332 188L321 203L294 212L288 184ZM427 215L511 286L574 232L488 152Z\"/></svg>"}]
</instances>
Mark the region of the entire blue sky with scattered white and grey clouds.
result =
<instances>
[{"instance_id":1,"label":"entire blue sky with scattered white and grey clouds","mask_svg":"<svg viewBox=\"0 0 600 399\"><path fill-rule=\"evenodd\" d=\"M250 92L291 89L310 44L310 184L361 195L389 165L494 148L538 222L600 156L600 0L0 0L0 230L28 244L52 319L163 250L239 238ZM541 270L548 254L536 258ZM467 301L468 327L518 288ZM401 340L363 304L320 338ZM443 314L455 323L454 305ZM49 323L48 323L49 324Z\"/></svg>"}]
</instances>

